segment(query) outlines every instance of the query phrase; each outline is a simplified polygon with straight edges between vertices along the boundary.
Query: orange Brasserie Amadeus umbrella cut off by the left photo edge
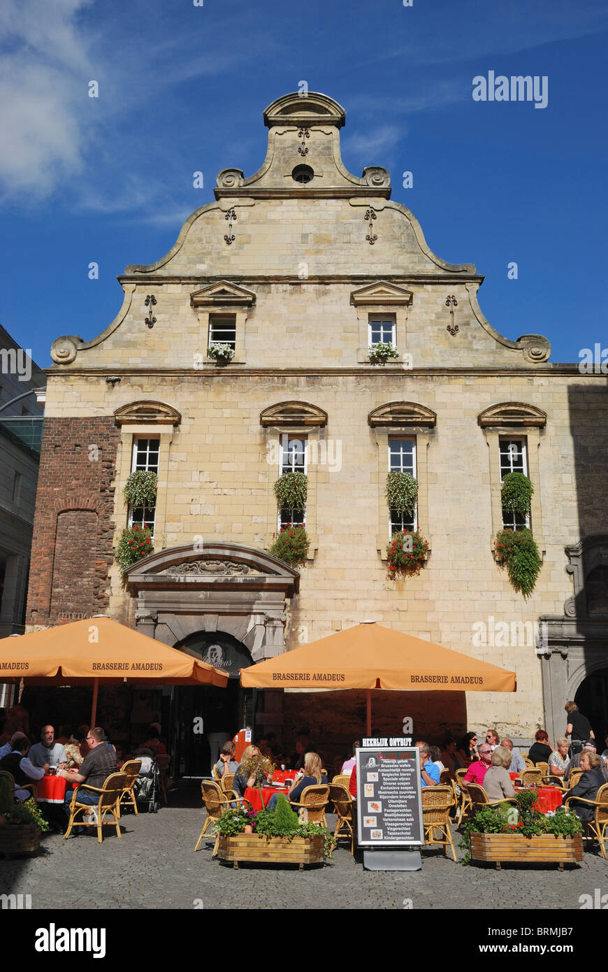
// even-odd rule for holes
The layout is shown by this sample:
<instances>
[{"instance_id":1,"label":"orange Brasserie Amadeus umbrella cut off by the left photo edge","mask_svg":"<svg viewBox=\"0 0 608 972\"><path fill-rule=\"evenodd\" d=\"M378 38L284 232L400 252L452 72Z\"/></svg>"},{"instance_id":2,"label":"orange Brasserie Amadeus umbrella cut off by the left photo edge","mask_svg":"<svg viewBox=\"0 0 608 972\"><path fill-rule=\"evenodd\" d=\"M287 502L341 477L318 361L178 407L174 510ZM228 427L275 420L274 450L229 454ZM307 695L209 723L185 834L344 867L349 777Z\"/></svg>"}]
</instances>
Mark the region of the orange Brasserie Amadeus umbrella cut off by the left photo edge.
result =
<instances>
[{"instance_id":1,"label":"orange Brasserie Amadeus umbrella cut off by the left photo edge","mask_svg":"<svg viewBox=\"0 0 608 972\"><path fill-rule=\"evenodd\" d=\"M93 686L95 724L99 681L106 684L217 685L228 676L177 648L156 642L105 615L0 640L0 681Z\"/></svg>"}]
</instances>

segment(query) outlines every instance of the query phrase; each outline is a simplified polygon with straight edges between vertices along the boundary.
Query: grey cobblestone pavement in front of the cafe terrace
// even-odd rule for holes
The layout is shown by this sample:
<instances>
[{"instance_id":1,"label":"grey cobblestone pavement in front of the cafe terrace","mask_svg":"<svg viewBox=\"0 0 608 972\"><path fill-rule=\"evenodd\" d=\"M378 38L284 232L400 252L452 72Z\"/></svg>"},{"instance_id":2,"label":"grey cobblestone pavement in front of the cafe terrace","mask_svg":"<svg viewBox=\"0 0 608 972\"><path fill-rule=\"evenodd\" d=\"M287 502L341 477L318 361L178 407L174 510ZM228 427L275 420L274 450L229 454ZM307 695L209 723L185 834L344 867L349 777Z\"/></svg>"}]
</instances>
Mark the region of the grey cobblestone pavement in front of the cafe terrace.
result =
<instances>
[{"instance_id":1,"label":"grey cobblestone pavement in front of the cafe terrace","mask_svg":"<svg viewBox=\"0 0 608 972\"><path fill-rule=\"evenodd\" d=\"M188 801L183 801L188 802ZM189 801L191 802L191 801ZM423 851L422 871L364 871L348 848L335 862L300 873L296 868L212 860L213 845L194 844L204 819L200 807L163 808L122 817L122 837L91 828L64 841L44 835L35 857L0 861L0 893L30 894L36 908L260 908L260 909L579 909L579 896L608 892L608 861L585 852L578 868L557 865L464 867L441 849ZM327 817L330 827L335 817ZM457 850L458 860L462 852ZM196 902L196 903L195 903Z\"/></svg>"}]
</instances>

